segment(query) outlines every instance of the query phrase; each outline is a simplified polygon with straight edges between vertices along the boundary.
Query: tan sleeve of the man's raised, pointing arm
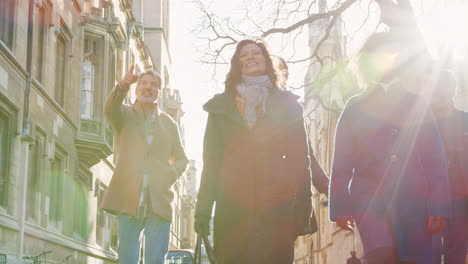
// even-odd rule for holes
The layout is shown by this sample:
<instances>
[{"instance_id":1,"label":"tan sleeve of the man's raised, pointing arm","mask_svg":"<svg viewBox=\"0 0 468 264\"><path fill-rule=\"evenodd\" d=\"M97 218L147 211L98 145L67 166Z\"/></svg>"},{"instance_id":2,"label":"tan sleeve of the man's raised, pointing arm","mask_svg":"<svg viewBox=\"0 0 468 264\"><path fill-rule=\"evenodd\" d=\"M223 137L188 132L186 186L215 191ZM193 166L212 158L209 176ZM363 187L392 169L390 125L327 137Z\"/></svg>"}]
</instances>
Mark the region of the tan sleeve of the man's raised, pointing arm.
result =
<instances>
[{"instance_id":1,"label":"tan sleeve of the man's raised, pointing arm","mask_svg":"<svg viewBox=\"0 0 468 264\"><path fill-rule=\"evenodd\" d=\"M122 102L127 96L128 89L122 88L119 84L112 88L104 104L104 115L114 129L119 130L124 123L124 111Z\"/></svg>"}]
</instances>

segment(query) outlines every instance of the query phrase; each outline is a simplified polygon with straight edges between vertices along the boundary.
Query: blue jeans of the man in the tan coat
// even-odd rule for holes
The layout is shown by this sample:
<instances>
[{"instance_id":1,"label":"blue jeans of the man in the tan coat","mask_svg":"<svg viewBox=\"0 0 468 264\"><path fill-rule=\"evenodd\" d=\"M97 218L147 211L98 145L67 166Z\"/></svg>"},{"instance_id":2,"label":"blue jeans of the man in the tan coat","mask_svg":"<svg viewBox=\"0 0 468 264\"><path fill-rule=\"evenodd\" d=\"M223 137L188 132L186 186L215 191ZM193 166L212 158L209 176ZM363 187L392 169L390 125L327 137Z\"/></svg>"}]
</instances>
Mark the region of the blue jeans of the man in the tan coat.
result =
<instances>
[{"instance_id":1,"label":"blue jeans of the man in the tan coat","mask_svg":"<svg viewBox=\"0 0 468 264\"><path fill-rule=\"evenodd\" d=\"M118 215L119 264L138 264L141 232L145 234L145 264L164 264L171 223L159 216L139 219Z\"/></svg>"}]
</instances>

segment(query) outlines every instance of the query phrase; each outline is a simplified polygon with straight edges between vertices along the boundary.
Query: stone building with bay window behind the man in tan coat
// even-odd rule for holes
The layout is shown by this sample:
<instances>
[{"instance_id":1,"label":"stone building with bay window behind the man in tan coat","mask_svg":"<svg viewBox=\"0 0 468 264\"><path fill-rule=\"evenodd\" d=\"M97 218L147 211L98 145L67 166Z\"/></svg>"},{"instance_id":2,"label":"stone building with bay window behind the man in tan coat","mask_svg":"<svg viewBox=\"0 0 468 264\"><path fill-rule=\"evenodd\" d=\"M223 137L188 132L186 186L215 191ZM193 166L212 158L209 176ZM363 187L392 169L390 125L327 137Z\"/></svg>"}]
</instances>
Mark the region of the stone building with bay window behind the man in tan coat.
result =
<instances>
[{"instance_id":1,"label":"stone building with bay window behind the man in tan coat","mask_svg":"<svg viewBox=\"0 0 468 264\"><path fill-rule=\"evenodd\" d=\"M181 98L169 86L168 17L169 0L0 1L0 256L7 263L49 251L52 263L117 263L116 217L98 206L114 169L103 104L129 65L155 68L161 108L183 130ZM193 170L174 186L179 216L193 207L185 197ZM177 248L193 225L173 220Z\"/></svg>"}]
</instances>

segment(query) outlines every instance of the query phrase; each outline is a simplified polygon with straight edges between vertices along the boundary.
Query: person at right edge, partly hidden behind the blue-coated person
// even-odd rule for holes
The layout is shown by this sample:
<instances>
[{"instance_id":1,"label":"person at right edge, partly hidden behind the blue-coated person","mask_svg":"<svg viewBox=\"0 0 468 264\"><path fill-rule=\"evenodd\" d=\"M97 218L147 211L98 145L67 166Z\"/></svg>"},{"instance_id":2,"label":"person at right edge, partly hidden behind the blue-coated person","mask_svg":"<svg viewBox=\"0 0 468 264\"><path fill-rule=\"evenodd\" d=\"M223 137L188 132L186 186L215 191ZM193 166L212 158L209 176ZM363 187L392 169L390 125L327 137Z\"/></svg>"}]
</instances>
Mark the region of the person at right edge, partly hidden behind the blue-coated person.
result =
<instances>
[{"instance_id":1,"label":"person at right edge, partly hidden behind the blue-coated person","mask_svg":"<svg viewBox=\"0 0 468 264\"><path fill-rule=\"evenodd\" d=\"M434 72L432 72L433 74ZM456 82L451 72L435 76L432 109L439 124L449 166L453 218L444 232L444 263L465 264L468 249L468 112L454 107Z\"/></svg>"}]
</instances>

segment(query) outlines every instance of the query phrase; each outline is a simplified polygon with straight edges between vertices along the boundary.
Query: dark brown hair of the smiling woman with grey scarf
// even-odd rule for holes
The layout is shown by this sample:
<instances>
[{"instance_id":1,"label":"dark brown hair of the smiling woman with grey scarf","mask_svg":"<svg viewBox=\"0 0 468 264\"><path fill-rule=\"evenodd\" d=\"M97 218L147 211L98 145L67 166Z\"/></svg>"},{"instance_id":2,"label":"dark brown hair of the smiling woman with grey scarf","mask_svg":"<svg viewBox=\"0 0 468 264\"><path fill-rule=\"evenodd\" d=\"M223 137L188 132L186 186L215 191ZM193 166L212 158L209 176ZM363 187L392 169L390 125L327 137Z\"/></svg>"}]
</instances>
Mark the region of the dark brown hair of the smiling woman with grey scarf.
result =
<instances>
[{"instance_id":1,"label":"dark brown hair of the smiling woman with grey scarf","mask_svg":"<svg viewBox=\"0 0 468 264\"><path fill-rule=\"evenodd\" d=\"M266 75L268 75L271 79L271 82L275 84L275 87L278 86L278 76L276 74L277 70L273 65L273 62L270 57L270 52L263 40L257 39L244 39L239 41L236 46L236 51L231 58L231 68L229 69L228 74L226 75L225 84L225 92L231 96L237 95L236 87L242 81L242 73L240 67L240 60L239 60L239 53L242 47L248 44L255 44L257 45L263 52L263 56L265 57L265 64L266 64Z\"/></svg>"}]
</instances>

